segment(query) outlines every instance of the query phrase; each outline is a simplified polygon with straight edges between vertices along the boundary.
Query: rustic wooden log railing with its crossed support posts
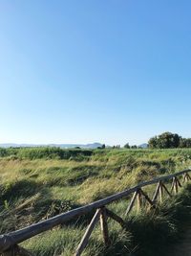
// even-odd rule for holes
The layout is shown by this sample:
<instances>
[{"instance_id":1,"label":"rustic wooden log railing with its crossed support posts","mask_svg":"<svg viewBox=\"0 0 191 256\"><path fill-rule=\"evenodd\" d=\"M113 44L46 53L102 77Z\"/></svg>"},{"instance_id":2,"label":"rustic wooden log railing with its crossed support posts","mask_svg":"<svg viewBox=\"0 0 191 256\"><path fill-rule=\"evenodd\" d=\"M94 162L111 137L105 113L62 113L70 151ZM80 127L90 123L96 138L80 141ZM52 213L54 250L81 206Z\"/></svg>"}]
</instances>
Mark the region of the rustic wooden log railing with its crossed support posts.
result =
<instances>
[{"instance_id":1,"label":"rustic wooden log railing with its crossed support posts","mask_svg":"<svg viewBox=\"0 0 191 256\"><path fill-rule=\"evenodd\" d=\"M159 198L159 201L161 202L164 192L167 194L168 197L172 197L173 195L176 195L179 192L179 188L183 183L191 180L191 177L189 175L190 172L191 170L184 170L184 171L181 171L180 173L176 173L173 175L160 176L160 177L154 178L153 180L139 183L137 186L133 188L117 193L108 198L103 198L95 202L92 202L88 205L76 208L72 211L57 215L49 220L40 221L38 223L32 224L31 226L25 227L23 229L1 235L0 236L0 254L3 256L12 256L12 255L30 256L32 255L32 252L24 249L18 244L44 231L50 230L56 225L59 225L67 221L71 221L76 217L86 215L94 210L96 210L96 213L92 221L88 225L88 228L80 244L77 246L74 256L81 255L84 248L88 244L89 238L96 226L96 223L99 220L101 225L101 231L103 234L104 244L108 246L110 244L110 238L109 238L107 219L111 218L114 221L117 221L123 228L126 227L126 223L116 213L107 209L106 205L114 201L117 201L121 198L127 198L128 196L133 194L133 197L130 200L129 206L127 207L127 210L125 213L126 215L128 215L132 211L136 200L138 200L138 204L137 204L138 210L140 209L142 198L144 198L145 201L148 202L151 208L156 208L158 203L158 198ZM172 180L172 185L171 185L171 188L169 189L167 188L166 181L169 183L169 181L171 180ZM151 198L147 195L147 193L143 191L143 188L153 184L157 184L157 187L153 197Z\"/></svg>"}]
</instances>

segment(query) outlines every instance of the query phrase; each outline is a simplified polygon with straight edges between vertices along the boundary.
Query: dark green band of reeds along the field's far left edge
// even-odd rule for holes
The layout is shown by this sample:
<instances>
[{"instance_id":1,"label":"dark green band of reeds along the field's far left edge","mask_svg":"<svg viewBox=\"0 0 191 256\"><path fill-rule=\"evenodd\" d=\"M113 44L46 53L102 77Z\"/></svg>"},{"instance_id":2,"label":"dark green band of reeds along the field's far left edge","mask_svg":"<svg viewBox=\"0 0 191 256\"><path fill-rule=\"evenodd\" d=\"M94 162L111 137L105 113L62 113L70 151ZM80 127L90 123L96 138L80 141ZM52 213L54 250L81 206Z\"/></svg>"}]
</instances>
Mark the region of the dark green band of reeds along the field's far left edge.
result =
<instances>
[{"instance_id":1,"label":"dark green band of reeds along the field's far left edge","mask_svg":"<svg viewBox=\"0 0 191 256\"><path fill-rule=\"evenodd\" d=\"M81 149L60 149L56 147L38 148L0 148L0 157L28 158L28 159L77 159L91 156L93 151Z\"/></svg>"}]
</instances>

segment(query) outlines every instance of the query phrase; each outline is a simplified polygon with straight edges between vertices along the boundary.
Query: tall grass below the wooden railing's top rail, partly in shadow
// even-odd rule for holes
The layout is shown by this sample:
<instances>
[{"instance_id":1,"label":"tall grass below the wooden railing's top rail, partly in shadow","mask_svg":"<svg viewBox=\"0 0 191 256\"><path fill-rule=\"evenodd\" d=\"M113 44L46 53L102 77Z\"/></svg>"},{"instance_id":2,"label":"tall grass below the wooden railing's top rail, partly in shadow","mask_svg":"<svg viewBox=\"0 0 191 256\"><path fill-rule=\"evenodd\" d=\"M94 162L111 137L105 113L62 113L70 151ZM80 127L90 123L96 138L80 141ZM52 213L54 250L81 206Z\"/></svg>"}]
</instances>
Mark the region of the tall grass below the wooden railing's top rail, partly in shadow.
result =
<instances>
[{"instance_id":1,"label":"tall grass below the wooden railing's top rail, partly in shadow","mask_svg":"<svg viewBox=\"0 0 191 256\"><path fill-rule=\"evenodd\" d=\"M97 224L83 255L90 256L159 256L165 255L169 244L176 243L182 232L181 226L191 217L191 185L184 187L180 194L169 203L164 200L157 210L142 209L124 218L126 228L108 219L111 245L104 247L100 226ZM110 209L124 216L124 200L113 203ZM35 255L74 255L86 228L86 222L54 228L30 241L23 243Z\"/></svg>"}]
</instances>

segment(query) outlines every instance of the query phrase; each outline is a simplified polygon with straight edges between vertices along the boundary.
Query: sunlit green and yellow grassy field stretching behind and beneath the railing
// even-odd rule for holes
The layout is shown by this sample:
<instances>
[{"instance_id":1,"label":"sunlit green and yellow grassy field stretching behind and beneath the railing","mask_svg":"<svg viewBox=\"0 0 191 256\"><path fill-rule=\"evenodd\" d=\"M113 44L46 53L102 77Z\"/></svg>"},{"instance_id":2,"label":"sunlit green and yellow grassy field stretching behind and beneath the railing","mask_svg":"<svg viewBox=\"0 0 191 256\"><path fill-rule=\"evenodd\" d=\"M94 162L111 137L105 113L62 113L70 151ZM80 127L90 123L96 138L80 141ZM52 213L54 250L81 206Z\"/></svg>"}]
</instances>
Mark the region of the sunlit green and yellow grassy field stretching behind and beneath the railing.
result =
<instances>
[{"instance_id":1,"label":"sunlit green and yellow grassy field stretching behind and beneath the railing","mask_svg":"<svg viewBox=\"0 0 191 256\"><path fill-rule=\"evenodd\" d=\"M4 233L45 220L140 181L190 166L191 150L0 149L0 231ZM186 203L190 203L190 190L189 186L184 188L184 193L170 205L164 202L160 213L133 212L126 220L127 230L109 221L113 243L107 250L97 226L84 255L154 255L158 240L166 242L165 234L169 240L177 237L178 220L185 220L188 214ZM183 218L180 205L185 205ZM121 215L127 203L122 200L110 207ZM167 211L172 214L167 216ZM35 255L73 255L74 245L79 243L86 226L85 219L74 220L24 245ZM146 226L149 228L145 229ZM148 233L147 238L153 244L150 249L140 235L141 229ZM154 236L154 231L160 235Z\"/></svg>"}]
</instances>

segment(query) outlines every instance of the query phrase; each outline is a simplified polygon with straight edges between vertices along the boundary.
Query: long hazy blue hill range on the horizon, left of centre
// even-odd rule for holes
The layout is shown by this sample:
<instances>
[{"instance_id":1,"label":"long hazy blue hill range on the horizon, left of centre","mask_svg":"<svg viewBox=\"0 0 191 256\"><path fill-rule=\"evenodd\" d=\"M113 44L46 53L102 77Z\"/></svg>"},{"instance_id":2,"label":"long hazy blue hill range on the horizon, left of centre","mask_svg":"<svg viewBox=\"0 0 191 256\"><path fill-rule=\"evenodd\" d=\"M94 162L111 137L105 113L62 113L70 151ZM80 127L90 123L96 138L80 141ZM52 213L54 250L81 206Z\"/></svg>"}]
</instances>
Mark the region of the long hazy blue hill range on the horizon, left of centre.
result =
<instances>
[{"instance_id":1,"label":"long hazy blue hill range on the horizon, left of centre","mask_svg":"<svg viewBox=\"0 0 191 256\"><path fill-rule=\"evenodd\" d=\"M71 149L79 147L81 149L96 149L101 147L102 144L95 142L91 144L16 144L16 143L4 143L0 144L0 148L27 148L27 147L58 147L61 149Z\"/></svg>"}]
</instances>

